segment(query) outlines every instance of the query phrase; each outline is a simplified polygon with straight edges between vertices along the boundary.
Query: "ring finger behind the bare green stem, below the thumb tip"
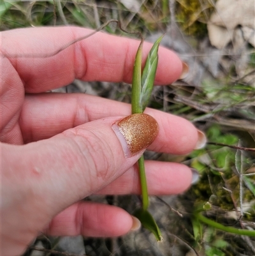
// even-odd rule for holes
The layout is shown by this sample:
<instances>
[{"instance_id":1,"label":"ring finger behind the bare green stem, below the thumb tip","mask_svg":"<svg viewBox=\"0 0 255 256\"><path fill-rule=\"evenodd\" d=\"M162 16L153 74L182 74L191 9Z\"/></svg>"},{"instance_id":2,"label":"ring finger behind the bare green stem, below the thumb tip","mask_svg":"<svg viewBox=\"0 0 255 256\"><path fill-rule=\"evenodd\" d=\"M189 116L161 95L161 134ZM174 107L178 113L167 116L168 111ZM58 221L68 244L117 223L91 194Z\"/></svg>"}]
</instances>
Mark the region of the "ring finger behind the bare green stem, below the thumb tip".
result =
<instances>
[{"instance_id":1,"label":"ring finger behind the bare green stem, below the thumb tip","mask_svg":"<svg viewBox=\"0 0 255 256\"><path fill-rule=\"evenodd\" d=\"M192 172L181 163L145 161L146 179L150 195L172 195L184 192L191 184ZM101 195L141 194L137 166L98 192Z\"/></svg>"}]
</instances>

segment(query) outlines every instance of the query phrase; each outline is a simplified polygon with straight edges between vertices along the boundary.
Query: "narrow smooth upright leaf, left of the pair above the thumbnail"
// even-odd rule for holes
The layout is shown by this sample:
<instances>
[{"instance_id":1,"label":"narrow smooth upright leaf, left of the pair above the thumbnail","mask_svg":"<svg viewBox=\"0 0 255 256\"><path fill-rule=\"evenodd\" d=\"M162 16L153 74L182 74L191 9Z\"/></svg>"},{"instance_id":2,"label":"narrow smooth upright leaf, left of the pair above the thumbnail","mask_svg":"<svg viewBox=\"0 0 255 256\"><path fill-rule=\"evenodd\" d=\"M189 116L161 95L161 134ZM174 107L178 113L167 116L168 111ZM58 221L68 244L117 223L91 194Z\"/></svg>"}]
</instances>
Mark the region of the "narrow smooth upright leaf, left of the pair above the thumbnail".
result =
<instances>
[{"instance_id":1,"label":"narrow smooth upright leaf, left of the pair above the thumbnail","mask_svg":"<svg viewBox=\"0 0 255 256\"><path fill-rule=\"evenodd\" d=\"M142 113L141 105L141 73L142 73L142 51L143 51L143 40L141 41L138 50L136 52L135 66L133 71L132 81L132 114Z\"/></svg>"}]
</instances>

